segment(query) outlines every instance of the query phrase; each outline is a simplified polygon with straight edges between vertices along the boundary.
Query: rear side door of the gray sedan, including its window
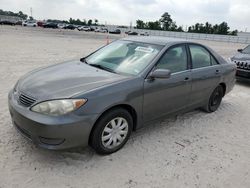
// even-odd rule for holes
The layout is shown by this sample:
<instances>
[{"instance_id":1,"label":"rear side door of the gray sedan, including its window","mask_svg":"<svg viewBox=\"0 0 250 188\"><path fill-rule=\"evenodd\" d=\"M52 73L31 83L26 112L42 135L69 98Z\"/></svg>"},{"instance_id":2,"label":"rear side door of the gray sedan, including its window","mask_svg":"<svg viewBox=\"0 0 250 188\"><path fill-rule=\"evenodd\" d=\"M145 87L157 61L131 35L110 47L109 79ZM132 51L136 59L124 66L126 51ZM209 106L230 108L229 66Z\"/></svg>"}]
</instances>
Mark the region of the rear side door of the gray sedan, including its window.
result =
<instances>
[{"instance_id":1,"label":"rear side door of the gray sedan, including its window","mask_svg":"<svg viewBox=\"0 0 250 188\"><path fill-rule=\"evenodd\" d=\"M190 105L198 105L208 100L212 91L220 83L221 65L203 46L189 44L192 62L192 93Z\"/></svg>"}]
</instances>

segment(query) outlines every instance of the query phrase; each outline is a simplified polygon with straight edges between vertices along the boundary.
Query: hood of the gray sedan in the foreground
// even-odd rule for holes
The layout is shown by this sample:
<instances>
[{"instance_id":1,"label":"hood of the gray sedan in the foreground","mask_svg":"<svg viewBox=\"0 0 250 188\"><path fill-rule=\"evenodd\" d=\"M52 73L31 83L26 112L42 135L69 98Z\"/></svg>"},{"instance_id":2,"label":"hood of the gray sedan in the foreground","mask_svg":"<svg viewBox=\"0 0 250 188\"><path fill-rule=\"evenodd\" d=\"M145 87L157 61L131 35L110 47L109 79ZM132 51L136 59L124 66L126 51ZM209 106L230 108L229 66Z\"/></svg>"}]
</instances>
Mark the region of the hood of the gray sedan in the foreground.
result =
<instances>
[{"instance_id":1,"label":"hood of the gray sedan in the foreground","mask_svg":"<svg viewBox=\"0 0 250 188\"><path fill-rule=\"evenodd\" d=\"M73 61L28 73L17 90L38 100L70 98L128 78Z\"/></svg>"}]
</instances>

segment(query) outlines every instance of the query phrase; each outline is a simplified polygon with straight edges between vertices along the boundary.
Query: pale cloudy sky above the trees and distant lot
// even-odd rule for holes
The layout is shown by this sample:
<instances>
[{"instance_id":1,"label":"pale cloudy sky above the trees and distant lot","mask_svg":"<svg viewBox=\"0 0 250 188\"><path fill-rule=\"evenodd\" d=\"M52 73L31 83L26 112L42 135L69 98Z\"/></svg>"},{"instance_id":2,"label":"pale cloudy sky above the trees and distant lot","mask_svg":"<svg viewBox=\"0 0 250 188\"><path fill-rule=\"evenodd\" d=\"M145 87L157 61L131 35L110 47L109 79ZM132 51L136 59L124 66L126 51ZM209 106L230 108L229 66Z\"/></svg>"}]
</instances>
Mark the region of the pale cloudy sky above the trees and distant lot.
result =
<instances>
[{"instance_id":1,"label":"pale cloudy sky above the trees and distant lot","mask_svg":"<svg viewBox=\"0 0 250 188\"><path fill-rule=\"evenodd\" d=\"M0 0L0 9L35 19L98 19L102 24L135 25L159 20L168 12L177 25L226 21L231 30L250 31L250 0Z\"/></svg>"}]
</instances>

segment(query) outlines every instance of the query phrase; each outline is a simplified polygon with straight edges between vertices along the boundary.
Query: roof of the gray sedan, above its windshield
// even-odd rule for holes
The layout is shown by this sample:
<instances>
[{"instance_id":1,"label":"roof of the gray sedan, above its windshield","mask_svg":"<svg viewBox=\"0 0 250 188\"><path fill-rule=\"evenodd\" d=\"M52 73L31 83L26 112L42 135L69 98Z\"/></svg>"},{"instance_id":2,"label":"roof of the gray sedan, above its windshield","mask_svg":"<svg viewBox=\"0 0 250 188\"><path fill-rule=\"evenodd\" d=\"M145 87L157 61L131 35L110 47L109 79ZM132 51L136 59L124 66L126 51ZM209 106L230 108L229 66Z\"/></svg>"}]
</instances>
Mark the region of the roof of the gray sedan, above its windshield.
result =
<instances>
[{"instance_id":1,"label":"roof of the gray sedan, above its windshield","mask_svg":"<svg viewBox=\"0 0 250 188\"><path fill-rule=\"evenodd\" d=\"M157 36L139 36L139 37L133 36L133 37L123 38L122 40L143 42L143 43L156 44L156 45L164 45L164 46L169 45L169 44L190 42L188 40L183 40L183 39L179 39L179 38L157 37Z\"/></svg>"}]
</instances>

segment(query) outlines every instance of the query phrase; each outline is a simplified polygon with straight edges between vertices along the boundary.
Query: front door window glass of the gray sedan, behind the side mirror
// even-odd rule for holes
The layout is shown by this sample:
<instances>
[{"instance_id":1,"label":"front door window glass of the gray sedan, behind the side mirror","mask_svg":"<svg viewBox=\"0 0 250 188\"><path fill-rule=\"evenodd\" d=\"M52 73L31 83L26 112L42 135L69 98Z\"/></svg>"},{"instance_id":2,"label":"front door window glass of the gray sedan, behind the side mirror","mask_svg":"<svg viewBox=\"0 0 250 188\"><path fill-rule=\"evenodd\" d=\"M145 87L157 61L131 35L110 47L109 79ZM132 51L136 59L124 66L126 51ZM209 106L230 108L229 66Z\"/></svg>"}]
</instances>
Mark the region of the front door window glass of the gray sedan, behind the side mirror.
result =
<instances>
[{"instance_id":1,"label":"front door window glass of the gray sedan, behind the side mirror","mask_svg":"<svg viewBox=\"0 0 250 188\"><path fill-rule=\"evenodd\" d=\"M171 73L187 70L187 52L184 45L172 47L161 57L156 69L168 69Z\"/></svg>"}]
</instances>

